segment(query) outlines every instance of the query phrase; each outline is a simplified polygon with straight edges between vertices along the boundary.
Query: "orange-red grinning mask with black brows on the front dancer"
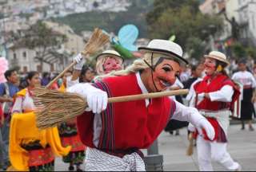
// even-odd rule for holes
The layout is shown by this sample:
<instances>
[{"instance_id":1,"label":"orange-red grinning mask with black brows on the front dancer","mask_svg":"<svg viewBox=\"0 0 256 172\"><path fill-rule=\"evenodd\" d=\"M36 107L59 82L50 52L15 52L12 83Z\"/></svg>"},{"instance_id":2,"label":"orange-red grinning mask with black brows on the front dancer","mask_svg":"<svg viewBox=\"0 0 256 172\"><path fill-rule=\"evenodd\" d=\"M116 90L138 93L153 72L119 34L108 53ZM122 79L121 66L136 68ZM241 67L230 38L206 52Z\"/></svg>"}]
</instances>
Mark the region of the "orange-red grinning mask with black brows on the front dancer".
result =
<instances>
[{"instance_id":1,"label":"orange-red grinning mask with black brows on the front dancer","mask_svg":"<svg viewBox=\"0 0 256 172\"><path fill-rule=\"evenodd\" d=\"M150 89L154 92L162 92L170 88L179 75L180 65L176 61L160 58L154 68L153 80L150 80Z\"/></svg>"}]
</instances>

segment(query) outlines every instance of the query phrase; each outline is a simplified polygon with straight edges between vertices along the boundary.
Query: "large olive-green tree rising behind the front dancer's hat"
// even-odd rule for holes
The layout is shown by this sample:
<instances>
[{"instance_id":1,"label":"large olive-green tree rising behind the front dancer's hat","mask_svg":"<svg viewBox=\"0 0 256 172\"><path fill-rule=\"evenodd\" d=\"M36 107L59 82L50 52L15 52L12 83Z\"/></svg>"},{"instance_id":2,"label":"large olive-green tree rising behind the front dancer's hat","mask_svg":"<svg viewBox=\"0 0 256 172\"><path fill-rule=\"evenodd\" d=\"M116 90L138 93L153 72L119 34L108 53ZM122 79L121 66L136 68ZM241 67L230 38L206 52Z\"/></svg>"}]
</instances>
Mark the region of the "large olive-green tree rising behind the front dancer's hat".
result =
<instances>
[{"instance_id":1,"label":"large olive-green tree rising behind the front dancer's hat","mask_svg":"<svg viewBox=\"0 0 256 172\"><path fill-rule=\"evenodd\" d=\"M222 20L201 14L198 4L197 0L155 0L154 10L146 18L150 38L168 39L170 35L176 35L175 42L186 52L198 53L200 47L202 51L199 52L204 53L204 41L222 29Z\"/></svg>"}]
</instances>

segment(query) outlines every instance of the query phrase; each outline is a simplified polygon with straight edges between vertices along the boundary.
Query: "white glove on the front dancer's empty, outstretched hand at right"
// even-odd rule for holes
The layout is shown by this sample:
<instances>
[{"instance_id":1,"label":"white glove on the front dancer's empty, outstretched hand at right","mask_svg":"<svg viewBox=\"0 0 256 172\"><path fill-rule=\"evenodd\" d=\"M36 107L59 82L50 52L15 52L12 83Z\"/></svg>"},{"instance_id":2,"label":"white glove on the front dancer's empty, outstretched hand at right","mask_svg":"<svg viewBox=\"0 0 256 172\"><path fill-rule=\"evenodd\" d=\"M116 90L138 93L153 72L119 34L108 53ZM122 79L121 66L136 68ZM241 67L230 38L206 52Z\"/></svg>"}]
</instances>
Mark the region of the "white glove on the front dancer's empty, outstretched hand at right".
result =
<instances>
[{"instance_id":1,"label":"white glove on the front dancer's empty, outstretched hand at right","mask_svg":"<svg viewBox=\"0 0 256 172\"><path fill-rule=\"evenodd\" d=\"M197 123L197 130L199 135L203 135L202 129L206 131L206 135L210 140L214 139L215 131L214 127L210 124L210 122L207 119L200 119Z\"/></svg>"}]
</instances>

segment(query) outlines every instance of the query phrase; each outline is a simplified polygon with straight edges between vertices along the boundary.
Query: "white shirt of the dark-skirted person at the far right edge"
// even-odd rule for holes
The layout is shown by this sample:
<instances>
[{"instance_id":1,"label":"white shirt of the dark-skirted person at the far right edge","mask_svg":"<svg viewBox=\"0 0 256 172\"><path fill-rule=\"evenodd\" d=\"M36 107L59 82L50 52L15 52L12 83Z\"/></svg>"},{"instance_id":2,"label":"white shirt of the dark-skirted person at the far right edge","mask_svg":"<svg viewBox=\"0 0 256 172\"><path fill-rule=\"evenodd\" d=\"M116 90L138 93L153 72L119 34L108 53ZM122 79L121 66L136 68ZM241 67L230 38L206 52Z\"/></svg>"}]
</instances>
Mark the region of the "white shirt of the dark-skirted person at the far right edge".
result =
<instances>
[{"instance_id":1,"label":"white shirt of the dark-skirted person at the far right edge","mask_svg":"<svg viewBox=\"0 0 256 172\"><path fill-rule=\"evenodd\" d=\"M242 85L251 86L252 88L256 87L256 80L251 72L248 71L240 71L235 72L232 76L232 80L235 80Z\"/></svg>"}]
</instances>

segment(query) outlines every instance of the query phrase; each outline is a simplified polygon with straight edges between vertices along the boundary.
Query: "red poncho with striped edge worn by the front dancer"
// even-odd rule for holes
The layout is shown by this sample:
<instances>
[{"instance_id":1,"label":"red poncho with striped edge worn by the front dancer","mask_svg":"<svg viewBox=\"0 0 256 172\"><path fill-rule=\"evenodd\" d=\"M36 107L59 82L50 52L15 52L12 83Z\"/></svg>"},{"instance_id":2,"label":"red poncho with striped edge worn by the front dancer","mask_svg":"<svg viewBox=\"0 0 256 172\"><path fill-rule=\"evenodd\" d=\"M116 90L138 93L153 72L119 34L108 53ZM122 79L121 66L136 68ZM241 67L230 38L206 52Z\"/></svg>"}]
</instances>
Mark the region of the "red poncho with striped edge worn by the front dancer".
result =
<instances>
[{"instance_id":1,"label":"red poncho with striped edge worn by the front dancer","mask_svg":"<svg viewBox=\"0 0 256 172\"><path fill-rule=\"evenodd\" d=\"M135 74L109 77L94 86L106 91L109 97L142 94ZM150 100L147 108L145 100L108 104L101 113L102 132L96 147L103 150L147 148L166 127L175 108L175 103L167 97ZM78 133L88 147L94 147L93 125L92 112L78 116Z\"/></svg>"}]
</instances>

